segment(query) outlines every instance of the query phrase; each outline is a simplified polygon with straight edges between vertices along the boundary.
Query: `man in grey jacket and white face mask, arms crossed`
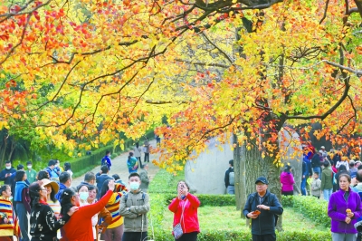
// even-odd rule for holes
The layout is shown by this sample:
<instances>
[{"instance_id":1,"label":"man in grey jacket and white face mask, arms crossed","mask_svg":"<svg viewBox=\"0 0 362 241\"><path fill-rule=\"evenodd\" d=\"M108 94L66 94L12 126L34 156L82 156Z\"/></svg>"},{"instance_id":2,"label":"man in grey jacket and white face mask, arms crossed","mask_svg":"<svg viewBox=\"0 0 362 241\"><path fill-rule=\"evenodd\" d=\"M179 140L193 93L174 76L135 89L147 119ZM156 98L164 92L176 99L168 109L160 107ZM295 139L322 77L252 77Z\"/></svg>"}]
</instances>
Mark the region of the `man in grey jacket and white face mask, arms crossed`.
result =
<instances>
[{"instance_id":1,"label":"man in grey jacket and white face mask, arms crossed","mask_svg":"<svg viewBox=\"0 0 362 241\"><path fill-rule=\"evenodd\" d=\"M138 173L131 173L130 191L120 198L119 215L124 217L122 241L146 240L148 237L149 196L141 191L140 184Z\"/></svg>"}]
</instances>

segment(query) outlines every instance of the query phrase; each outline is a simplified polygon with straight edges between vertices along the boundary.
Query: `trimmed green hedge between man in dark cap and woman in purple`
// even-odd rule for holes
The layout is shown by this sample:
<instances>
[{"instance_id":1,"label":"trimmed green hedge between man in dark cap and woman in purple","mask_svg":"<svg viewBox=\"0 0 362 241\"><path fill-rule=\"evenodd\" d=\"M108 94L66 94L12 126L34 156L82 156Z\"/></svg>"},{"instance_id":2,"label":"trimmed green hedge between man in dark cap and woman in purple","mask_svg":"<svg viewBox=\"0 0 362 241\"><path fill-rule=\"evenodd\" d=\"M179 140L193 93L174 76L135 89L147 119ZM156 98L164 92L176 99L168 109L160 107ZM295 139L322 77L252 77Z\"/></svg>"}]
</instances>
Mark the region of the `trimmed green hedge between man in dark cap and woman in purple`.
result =
<instances>
[{"instance_id":1,"label":"trimmed green hedge between man in dark cap and woman in purple","mask_svg":"<svg viewBox=\"0 0 362 241\"><path fill-rule=\"evenodd\" d=\"M328 202L310 196L282 196L281 201L284 207L293 207L313 222L330 228Z\"/></svg>"}]
</instances>

